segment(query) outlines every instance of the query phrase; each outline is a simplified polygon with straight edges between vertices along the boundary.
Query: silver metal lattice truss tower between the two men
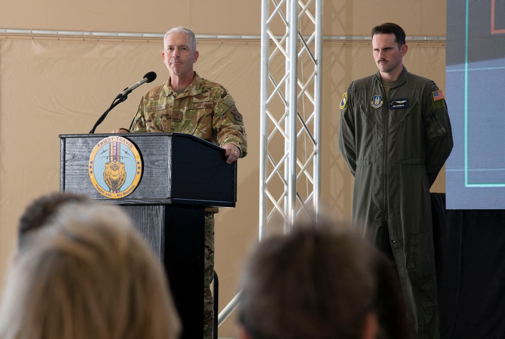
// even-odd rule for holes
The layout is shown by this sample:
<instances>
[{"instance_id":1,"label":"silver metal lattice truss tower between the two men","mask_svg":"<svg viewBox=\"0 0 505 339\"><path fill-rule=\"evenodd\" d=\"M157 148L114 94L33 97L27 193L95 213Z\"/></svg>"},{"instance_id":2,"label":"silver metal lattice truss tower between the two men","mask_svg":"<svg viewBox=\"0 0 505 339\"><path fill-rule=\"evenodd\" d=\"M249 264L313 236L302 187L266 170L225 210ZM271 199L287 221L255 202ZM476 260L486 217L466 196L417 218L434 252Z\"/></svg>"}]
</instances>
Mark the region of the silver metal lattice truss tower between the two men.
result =
<instances>
[{"instance_id":1,"label":"silver metal lattice truss tower between the two men","mask_svg":"<svg viewBox=\"0 0 505 339\"><path fill-rule=\"evenodd\" d=\"M260 240L317 217L322 10L323 0L262 0Z\"/></svg>"}]
</instances>

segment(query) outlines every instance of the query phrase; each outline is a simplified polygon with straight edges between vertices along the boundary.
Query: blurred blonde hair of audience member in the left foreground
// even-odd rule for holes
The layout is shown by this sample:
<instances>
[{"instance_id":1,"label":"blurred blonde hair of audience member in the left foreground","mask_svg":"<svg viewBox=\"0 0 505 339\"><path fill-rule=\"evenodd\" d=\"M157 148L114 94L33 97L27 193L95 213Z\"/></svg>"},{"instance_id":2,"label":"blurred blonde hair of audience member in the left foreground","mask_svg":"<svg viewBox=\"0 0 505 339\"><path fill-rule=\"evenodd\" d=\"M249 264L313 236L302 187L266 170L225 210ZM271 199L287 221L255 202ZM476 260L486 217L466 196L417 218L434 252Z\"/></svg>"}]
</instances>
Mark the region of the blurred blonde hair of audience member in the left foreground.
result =
<instances>
[{"instance_id":1,"label":"blurred blonde hair of audience member in the left foreground","mask_svg":"<svg viewBox=\"0 0 505 339\"><path fill-rule=\"evenodd\" d=\"M174 339L162 267L112 205L63 206L13 265L2 339Z\"/></svg>"}]
</instances>

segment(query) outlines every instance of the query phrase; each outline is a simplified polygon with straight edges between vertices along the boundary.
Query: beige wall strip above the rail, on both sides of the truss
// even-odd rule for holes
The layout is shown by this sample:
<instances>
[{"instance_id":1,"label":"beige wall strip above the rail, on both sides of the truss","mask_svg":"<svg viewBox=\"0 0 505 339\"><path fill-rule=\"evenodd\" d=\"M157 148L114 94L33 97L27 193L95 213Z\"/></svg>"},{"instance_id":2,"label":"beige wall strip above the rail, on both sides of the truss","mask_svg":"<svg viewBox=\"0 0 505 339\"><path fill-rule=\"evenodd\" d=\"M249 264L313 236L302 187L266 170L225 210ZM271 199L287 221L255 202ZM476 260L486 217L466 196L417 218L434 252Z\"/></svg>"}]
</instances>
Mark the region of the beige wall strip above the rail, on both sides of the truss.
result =
<instances>
[{"instance_id":1,"label":"beige wall strip above the rail, on both sides of the truss","mask_svg":"<svg viewBox=\"0 0 505 339\"><path fill-rule=\"evenodd\" d=\"M445 2L437 0L326 0L323 15L324 35L368 36L374 25L391 21L408 35L445 36ZM4 0L0 23L9 29L144 33L183 25L197 34L260 35L261 0ZM279 19L271 29L285 32Z\"/></svg>"}]
</instances>

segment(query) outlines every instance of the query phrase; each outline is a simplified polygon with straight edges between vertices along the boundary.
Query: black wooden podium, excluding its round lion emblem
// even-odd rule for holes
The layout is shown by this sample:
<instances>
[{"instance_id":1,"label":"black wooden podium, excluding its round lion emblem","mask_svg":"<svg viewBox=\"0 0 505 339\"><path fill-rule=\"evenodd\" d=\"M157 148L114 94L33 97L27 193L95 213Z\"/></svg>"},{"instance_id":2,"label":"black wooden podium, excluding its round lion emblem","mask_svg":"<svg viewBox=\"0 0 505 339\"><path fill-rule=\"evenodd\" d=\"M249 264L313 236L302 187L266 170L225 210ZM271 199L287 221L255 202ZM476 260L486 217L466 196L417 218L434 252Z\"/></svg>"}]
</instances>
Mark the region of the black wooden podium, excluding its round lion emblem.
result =
<instances>
[{"instance_id":1,"label":"black wooden podium, excluding its round lion emblem","mask_svg":"<svg viewBox=\"0 0 505 339\"><path fill-rule=\"evenodd\" d=\"M131 194L111 199L95 189L88 166L93 148L116 137L136 146L143 172ZM205 207L235 207L237 162L227 164L221 147L184 133L76 134L60 140L60 191L123 208L165 267L182 338L203 337Z\"/></svg>"}]
</instances>

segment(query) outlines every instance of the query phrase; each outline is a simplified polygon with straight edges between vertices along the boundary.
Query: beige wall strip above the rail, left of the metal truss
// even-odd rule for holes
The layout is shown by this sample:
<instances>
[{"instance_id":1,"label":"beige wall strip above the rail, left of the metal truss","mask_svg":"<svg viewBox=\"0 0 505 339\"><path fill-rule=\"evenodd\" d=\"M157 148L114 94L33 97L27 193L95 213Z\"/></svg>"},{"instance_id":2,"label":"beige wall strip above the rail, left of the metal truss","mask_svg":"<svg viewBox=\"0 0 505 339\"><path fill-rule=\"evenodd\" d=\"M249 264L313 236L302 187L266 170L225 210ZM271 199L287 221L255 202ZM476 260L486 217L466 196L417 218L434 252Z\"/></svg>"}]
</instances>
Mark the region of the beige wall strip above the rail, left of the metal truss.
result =
<instances>
[{"instance_id":1,"label":"beige wall strip above the rail, left of the metal truss","mask_svg":"<svg viewBox=\"0 0 505 339\"><path fill-rule=\"evenodd\" d=\"M182 25L196 34L260 34L259 0L5 0L2 5L0 28L165 33Z\"/></svg>"}]
</instances>

